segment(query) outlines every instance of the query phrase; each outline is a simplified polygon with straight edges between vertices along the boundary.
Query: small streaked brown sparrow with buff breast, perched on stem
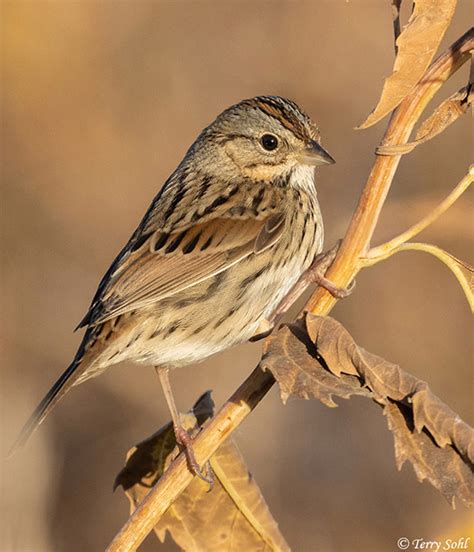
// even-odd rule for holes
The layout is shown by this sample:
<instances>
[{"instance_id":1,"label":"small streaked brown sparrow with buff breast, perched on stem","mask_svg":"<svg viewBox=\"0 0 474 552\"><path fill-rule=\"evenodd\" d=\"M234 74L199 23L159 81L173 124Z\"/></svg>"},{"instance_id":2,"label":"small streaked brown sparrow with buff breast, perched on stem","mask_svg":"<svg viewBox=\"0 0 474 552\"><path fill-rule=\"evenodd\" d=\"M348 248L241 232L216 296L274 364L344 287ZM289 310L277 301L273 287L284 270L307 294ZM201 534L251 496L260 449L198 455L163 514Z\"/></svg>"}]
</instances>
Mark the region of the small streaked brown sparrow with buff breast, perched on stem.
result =
<instances>
[{"instance_id":1,"label":"small streaked brown sparrow with buff breast, perched on stem","mask_svg":"<svg viewBox=\"0 0 474 552\"><path fill-rule=\"evenodd\" d=\"M243 100L204 128L102 278L72 363L21 431L22 446L75 385L122 361L154 366L177 442L169 370L248 341L323 248L315 167L334 163L293 101Z\"/></svg>"}]
</instances>

